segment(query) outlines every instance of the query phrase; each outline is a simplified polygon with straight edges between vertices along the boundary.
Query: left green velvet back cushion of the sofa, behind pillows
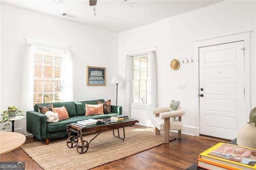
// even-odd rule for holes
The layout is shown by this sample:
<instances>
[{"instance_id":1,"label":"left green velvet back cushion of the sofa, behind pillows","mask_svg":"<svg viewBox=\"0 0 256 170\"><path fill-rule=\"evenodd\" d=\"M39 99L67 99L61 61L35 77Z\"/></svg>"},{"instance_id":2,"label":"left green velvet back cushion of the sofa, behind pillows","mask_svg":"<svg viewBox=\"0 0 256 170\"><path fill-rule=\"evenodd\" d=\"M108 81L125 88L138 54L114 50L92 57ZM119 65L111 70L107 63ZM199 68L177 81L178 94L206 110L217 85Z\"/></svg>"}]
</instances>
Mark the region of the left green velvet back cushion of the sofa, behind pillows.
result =
<instances>
[{"instance_id":1,"label":"left green velvet back cushion of the sofa, behind pillows","mask_svg":"<svg viewBox=\"0 0 256 170\"><path fill-rule=\"evenodd\" d=\"M36 104L36 105L34 105L34 111L38 112L38 105L46 106L46 105L49 105L49 104L50 103ZM53 104L53 107L62 107L62 106L64 106L68 111L69 117L77 116L76 115L76 105L73 101L59 102L59 103L52 103L52 104Z\"/></svg>"}]
</instances>

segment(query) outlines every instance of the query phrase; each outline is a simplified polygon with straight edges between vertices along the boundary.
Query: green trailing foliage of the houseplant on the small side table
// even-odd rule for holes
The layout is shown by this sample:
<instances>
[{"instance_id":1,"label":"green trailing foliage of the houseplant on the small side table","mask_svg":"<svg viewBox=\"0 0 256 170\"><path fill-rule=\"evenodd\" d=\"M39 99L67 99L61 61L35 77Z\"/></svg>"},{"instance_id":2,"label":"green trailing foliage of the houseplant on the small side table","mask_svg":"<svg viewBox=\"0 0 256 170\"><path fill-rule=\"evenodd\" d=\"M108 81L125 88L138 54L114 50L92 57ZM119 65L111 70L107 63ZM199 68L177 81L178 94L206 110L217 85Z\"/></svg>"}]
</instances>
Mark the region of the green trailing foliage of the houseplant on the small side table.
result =
<instances>
[{"instance_id":1,"label":"green trailing foliage of the houseplant on the small side table","mask_svg":"<svg viewBox=\"0 0 256 170\"><path fill-rule=\"evenodd\" d=\"M3 130L6 128L7 125L10 125L10 118L16 117L16 115L23 116L22 113L24 110L18 109L16 106L8 106L8 110L3 111L1 114L0 123L5 123Z\"/></svg>"}]
</instances>

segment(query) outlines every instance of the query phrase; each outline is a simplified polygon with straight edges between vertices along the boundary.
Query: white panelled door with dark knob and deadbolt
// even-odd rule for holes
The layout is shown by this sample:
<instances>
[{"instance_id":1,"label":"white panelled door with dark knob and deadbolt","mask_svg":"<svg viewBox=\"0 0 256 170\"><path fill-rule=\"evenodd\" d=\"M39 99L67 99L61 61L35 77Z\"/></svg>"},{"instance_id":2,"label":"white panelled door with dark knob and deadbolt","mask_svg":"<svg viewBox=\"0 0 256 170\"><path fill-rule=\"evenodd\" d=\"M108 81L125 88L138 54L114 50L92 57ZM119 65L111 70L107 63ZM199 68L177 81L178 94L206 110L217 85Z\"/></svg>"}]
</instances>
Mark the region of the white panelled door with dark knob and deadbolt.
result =
<instances>
[{"instance_id":1,"label":"white panelled door with dark knob and deadbolt","mask_svg":"<svg viewBox=\"0 0 256 170\"><path fill-rule=\"evenodd\" d=\"M199 48L200 134L234 139L245 125L244 42Z\"/></svg>"}]
</instances>

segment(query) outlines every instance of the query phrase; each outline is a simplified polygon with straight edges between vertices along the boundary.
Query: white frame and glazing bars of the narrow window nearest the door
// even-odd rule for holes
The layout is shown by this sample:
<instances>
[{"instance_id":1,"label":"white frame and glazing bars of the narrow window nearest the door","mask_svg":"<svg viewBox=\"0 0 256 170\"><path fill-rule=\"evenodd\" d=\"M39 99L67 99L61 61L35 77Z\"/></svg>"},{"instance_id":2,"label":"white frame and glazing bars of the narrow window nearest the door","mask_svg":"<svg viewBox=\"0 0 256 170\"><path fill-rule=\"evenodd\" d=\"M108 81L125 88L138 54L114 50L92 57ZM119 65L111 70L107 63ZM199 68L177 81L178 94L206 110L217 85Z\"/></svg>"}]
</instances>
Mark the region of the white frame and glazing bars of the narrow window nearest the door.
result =
<instances>
[{"instance_id":1,"label":"white frame and glazing bars of the narrow window nearest the door","mask_svg":"<svg viewBox=\"0 0 256 170\"><path fill-rule=\"evenodd\" d=\"M146 57L146 67L141 67L141 58L142 57ZM140 58L140 67L138 68L134 68L134 58ZM139 69L140 70L140 79L134 79L134 70ZM146 79L141 79L141 69L146 69ZM138 81L138 91L134 91L133 89L133 84L134 81ZM140 81L146 81L146 91L140 91ZM140 54L140 55L134 55L132 56L132 82L131 82L131 93L132 93L132 97L131 97L131 105L133 106L141 106L141 107L145 107L147 105L147 82L148 81L148 54L144 53L144 54ZM139 94L139 103L134 103L134 93L138 93ZM140 93L146 93L146 103L140 103ZM133 108L133 107L132 107ZM141 108L142 109L142 108Z\"/></svg>"}]
</instances>

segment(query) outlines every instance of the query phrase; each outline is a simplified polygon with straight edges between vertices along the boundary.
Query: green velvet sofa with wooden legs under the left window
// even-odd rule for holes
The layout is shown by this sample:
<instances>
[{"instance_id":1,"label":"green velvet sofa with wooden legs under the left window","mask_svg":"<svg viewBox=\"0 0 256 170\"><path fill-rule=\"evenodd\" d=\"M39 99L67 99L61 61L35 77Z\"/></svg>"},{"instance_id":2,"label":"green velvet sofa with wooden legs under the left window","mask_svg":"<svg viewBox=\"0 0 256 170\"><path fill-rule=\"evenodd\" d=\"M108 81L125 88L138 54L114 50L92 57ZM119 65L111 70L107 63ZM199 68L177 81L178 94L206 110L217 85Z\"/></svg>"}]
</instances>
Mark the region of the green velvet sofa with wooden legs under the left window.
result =
<instances>
[{"instance_id":1,"label":"green velvet sofa with wooden legs under the left window","mask_svg":"<svg viewBox=\"0 0 256 170\"><path fill-rule=\"evenodd\" d=\"M104 103L104 99L93 101L80 101L80 102L60 102L53 103L53 107L66 107L69 119L59 121L57 123L47 123L46 115L38 112L38 105L48 105L49 103L42 103L34 105L34 111L27 111L26 122L27 131L40 140L46 140L49 143L49 138L63 136L68 134L66 125L77 121L87 119L103 119L108 116L122 115L122 107L111 105L112 113L104 115L85 116L85 104L96 105L98 102Z\"/></svg>"}]
</instances>

